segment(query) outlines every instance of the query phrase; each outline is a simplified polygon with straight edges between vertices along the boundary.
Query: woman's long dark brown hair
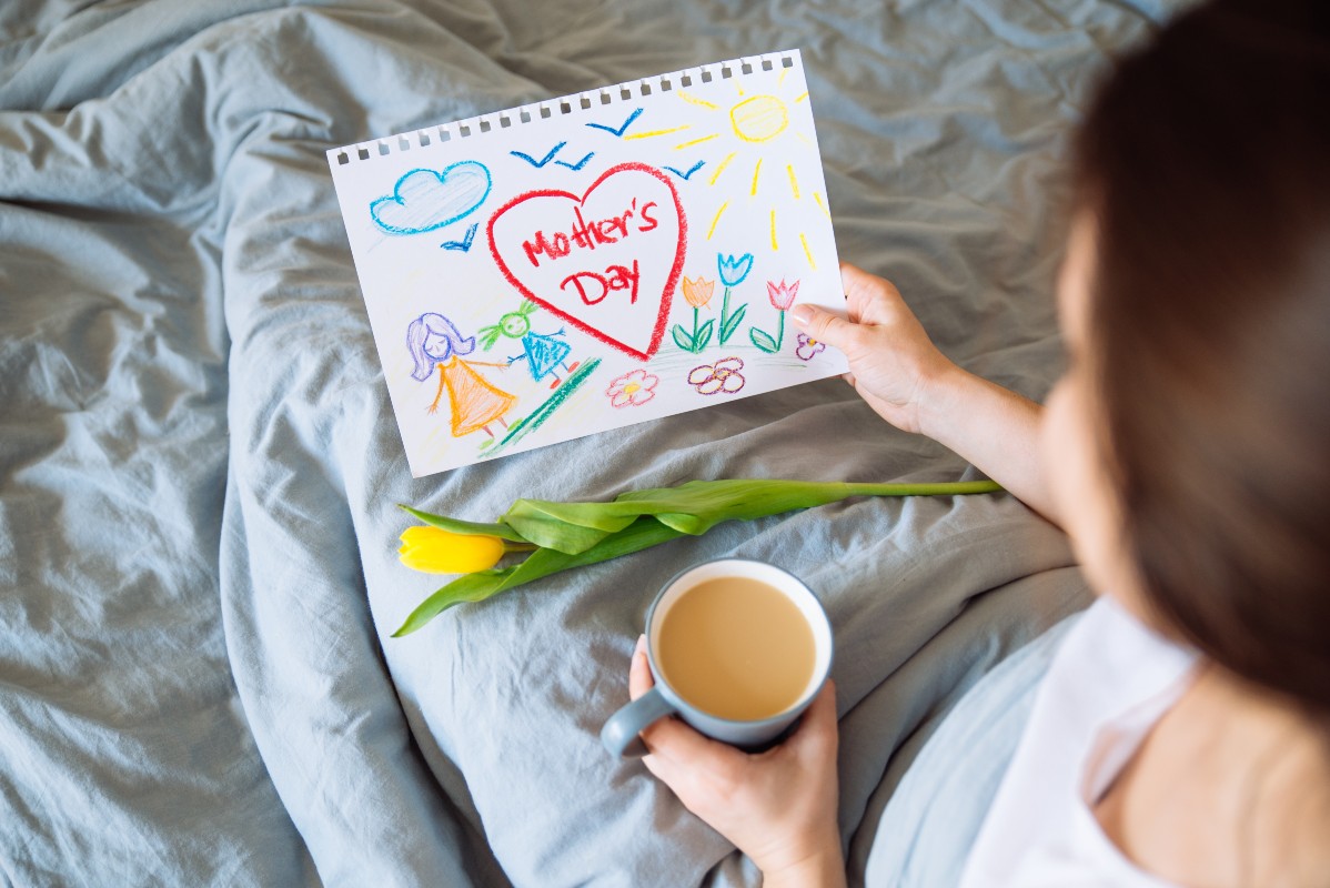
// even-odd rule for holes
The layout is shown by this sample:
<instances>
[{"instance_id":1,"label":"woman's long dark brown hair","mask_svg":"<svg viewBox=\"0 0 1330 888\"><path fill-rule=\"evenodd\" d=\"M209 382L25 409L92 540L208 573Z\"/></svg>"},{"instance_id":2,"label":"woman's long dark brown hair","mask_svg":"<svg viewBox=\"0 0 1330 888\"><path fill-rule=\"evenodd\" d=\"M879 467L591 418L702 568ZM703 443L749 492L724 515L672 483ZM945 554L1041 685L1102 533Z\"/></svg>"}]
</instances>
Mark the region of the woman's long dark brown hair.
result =
<instances>
[{"instance_id":1,"label":"woman's long dark brown hair","mask_svg":"<svg viewBox=\"0 0 1330 888\"><path fill-rule=\"evenodd\" d=\"M1161 622L1330 718L1330 3L1212 3L1079 132L1089 338Z\"/></svg>"}]
</instances>

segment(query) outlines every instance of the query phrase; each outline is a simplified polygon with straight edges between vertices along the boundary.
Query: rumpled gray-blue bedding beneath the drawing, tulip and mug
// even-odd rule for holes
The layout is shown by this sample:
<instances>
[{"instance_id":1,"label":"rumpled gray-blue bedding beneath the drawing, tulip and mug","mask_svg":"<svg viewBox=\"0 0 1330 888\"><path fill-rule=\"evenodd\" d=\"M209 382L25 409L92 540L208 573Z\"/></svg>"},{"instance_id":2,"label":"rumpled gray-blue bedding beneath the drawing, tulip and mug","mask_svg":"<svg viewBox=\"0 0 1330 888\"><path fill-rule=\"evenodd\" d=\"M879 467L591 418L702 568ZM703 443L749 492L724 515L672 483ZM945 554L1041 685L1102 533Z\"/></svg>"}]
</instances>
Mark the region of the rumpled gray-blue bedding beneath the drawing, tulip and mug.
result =
<instances>
[{"instance_id":1,"label":"rumpled gray-blue bedding beneath the drawing, tulip and mug","mask_svg":"<svg viewBox=\"0 0 1330 888\"><path fill-rule=\"evenodd\" d=\"M438 585L396 562L398 502L491 520L690 479L975 473L827 380L412 480L323 152L798 47L842 259L1039 399L1069 126L1168 13L0 5L0 883L754 885L597 743L658 586L728 554L802 576L831 615L862 880L939 715L1084 605L1061 534L1008 496L857 500L390 638Z\"/></svg>"}]
</instances>

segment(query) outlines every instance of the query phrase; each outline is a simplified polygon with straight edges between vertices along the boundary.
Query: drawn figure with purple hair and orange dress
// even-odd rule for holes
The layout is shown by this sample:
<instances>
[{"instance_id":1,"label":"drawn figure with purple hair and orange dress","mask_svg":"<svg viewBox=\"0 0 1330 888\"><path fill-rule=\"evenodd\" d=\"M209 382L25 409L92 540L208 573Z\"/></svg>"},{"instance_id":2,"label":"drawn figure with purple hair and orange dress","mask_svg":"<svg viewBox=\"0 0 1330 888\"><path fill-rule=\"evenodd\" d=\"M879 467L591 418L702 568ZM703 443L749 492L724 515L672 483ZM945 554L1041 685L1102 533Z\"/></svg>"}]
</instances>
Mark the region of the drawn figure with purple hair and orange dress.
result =
<instances>
[{"instance_id":1,"label":"drawn figure with purple hair and orange dress","mask_svg":"<svg viewBox=\"0 0 1330 888\"><path fill-rule=\"evenodd\" d=\"M463 339L451 320L440 314L427 312L407 327L407 350L415 360L415 370L411 372L415 380L423 383L435 370L439 371L439 391L428 409L431 413L439 409L439 401L447 389L454 437L484 429L493 440L495 433L489 425L496 420L508 428L503 416L512 409L516 397L491 384L473 370L475 366L503 368L507 364L467 362L460 358L476 350L475 336Z\"/></svg>"}]
</instances>

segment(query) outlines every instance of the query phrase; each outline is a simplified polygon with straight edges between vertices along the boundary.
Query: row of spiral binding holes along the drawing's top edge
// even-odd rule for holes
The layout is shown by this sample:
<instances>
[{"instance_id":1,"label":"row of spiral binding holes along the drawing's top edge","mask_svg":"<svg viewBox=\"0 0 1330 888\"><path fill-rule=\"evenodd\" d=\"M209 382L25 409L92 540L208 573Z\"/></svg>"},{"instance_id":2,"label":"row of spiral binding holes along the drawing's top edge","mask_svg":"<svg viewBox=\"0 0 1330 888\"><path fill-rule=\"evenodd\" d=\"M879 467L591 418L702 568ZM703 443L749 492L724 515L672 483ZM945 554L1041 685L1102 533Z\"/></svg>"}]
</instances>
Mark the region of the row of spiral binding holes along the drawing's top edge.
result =
<instances>
[{"instance_id":1,"label":"row of spiral binding holes along the drawing's top edge","mask_svg":"<svg viewBox=\"0 0 1330 888\"><path fill-rule=\"evenodd\" d=\"M577 114L585 110L595 110L616 101L634 101L646 98L656 92L668 93L676 89L688 89L694 82L710 84L716 80L730 80L732 77L751 74L755 70L775 70L777 68L793 68L794 51L781 51L763 53L761 56L743 56L729 61L685 68L682 70L644 77L637 81L628 81L613 86L600 86L572 96L561 96L545 101L519 105L501 112L477 114L451 124L440 124L428 129L419 129L414 133L402 133L387 138L371 140L359 145L338 150L338 165L350 164L352 160L367 161L374 156L384 157L394 153L410 152L415 148L428 148L435 141L451 142L454 140L471 138L483 133L512 129L533 120L547 120L556 114ZM412 144L411 136L415 136ZM392 142L396 141L396 145Z\"/></svg>"}]
</instances>

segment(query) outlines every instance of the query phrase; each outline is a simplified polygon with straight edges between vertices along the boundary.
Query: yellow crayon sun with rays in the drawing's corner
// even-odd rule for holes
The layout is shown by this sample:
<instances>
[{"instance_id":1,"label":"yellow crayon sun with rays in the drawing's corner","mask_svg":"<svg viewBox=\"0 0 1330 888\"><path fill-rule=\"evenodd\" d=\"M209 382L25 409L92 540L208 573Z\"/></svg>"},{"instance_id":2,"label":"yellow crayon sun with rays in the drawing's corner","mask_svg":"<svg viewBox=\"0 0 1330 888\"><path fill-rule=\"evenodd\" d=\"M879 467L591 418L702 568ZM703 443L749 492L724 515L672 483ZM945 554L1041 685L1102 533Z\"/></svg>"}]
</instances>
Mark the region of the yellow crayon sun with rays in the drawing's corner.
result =
<instances>
[{"instance_id":1,"label":"yellow crayon sun with rays in the drawing's corner","mask_svg":"<svg viewBox=\"0 0 1330 888\"><path fill-rule=\"evenodd\" d=\"M693 138L682 138L674 150L688 150L696 145L704 145L710 142L725 144L726 154L712 170L708 178L708 185L716 186L721 181L721 177L726 175L726 171L732 170L730 178L734 175L742 175L742 182L747 183L745 189L747 191L747 201L763 201L763 210L766 217L766 231L767 241L770 243L771 251L779 251L781 245L785 241L782 233L789 231L789 225L783 221L782 203L793 203L795 210L807 206L805 201L811 199L827 218L826 201L821 191L805 191L799 187L799 170L797 166L799 164L813 162L817 164L817 148L797 128L790 125L790 108L799 102L807 101L809 93L803 92L793 98L782 97L785 76L790 72L789 68L781 72L777 80L775 90L770 93L747 94L743 90L739 78L734 78L734 85L738 89L738 97L733 105L729 108L722 108L713 101L708 101L685 90L677 90L674 94L678 96L685 102L696 105L708 112L725 113L726 122L716 126L716 132L709 132L702 136ZM644 133L634 133L632 136L625 136L625 140L634 138L656 138L661 136L670 136L674 133L684 133L685 130L693 129L692 124L685 124L682 126L672 126L669 129L658 129ZM807 150L790 150L790 145L782 142L789 142L794 137L802 142L803 148ZM773 157L775 160L773 161ZM783 169L781 164L783 161ZM805 177L807 181L813 177ZM738 198L743 199L743 198ZM712 215L710 225L706 230L706 239L710 241L716 237L717 230L724 226L724 217L726 210L730 209L733 201L722 201ZM802 218L802 213L791 214L797 219ZM802 230L794 233L797 235L799 246L803 249L803 258L807 261L809 267L817 270L817 261L813 257L813 251L809 249L807 234Z\"/></svg>"}]
</instances>

